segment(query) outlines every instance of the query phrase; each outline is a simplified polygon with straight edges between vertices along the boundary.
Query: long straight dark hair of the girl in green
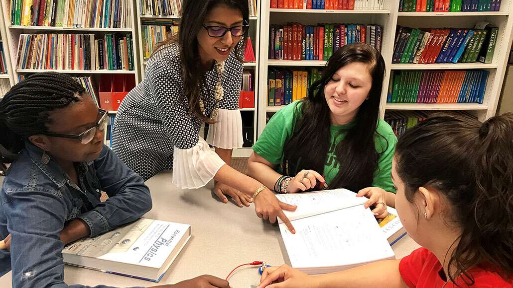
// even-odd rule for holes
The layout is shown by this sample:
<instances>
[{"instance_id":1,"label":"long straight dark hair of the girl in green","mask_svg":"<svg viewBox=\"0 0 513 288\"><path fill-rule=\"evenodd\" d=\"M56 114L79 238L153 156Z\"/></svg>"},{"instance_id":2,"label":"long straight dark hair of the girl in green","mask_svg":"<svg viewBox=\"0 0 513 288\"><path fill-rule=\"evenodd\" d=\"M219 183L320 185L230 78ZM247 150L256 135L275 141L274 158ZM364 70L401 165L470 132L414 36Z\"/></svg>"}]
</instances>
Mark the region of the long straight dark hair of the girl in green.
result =
<instances>
[{"instance_id":1,"label":"long straight dark hair of the girl in green","mask_svg":"<svg viewBox=\"0 0 513 288\"><path fill-rule=\"evenodd\" d=\"M303 99L301 111L294 113L299 119L293 129L291 139L284 147L282 170L288 175L295 175L302 169L324 171L330 145L330 109L324 97L324 86L331 77L349 63L367 64L372 86L368 100L360 106L354 126L348 129L347 135L335 148L340 164L337 176L329 186L344 187L358 191L371 186L372 177L378 166L379 153L374 144L377 135L381 90L385 75L385 61L381 54L365 43L346 45L329 58L323 70L322 78L314 82Z\"/></svg>"}]
</instances>

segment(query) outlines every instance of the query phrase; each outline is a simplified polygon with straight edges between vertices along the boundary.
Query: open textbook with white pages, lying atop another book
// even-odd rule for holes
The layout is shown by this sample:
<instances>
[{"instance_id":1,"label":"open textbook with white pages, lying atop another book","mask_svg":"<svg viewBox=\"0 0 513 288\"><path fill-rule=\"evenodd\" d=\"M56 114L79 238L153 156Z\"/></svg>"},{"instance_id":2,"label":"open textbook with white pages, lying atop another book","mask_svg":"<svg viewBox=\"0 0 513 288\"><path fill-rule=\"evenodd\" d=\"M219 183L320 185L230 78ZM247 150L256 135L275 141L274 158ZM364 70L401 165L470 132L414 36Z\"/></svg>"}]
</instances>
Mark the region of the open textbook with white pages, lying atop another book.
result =
<instances>
[{"instance_id":1,"label":"open textbook with white pages, lying atop another book","mask_svg":"<svg viewBox=\"0 0 513 288\"><path fill-rule=\"evenodd\" d=\"M395 209L388 207L392 215L380 227L370 209L364 208L367 198L356 197L356 193L346 189L277 197L298 206L293 212L284 210L296 233L290 233L281 220L279 227L292 267L308 274L394 259L390 243L405 234Z\"/></svg>"}]
</instances>

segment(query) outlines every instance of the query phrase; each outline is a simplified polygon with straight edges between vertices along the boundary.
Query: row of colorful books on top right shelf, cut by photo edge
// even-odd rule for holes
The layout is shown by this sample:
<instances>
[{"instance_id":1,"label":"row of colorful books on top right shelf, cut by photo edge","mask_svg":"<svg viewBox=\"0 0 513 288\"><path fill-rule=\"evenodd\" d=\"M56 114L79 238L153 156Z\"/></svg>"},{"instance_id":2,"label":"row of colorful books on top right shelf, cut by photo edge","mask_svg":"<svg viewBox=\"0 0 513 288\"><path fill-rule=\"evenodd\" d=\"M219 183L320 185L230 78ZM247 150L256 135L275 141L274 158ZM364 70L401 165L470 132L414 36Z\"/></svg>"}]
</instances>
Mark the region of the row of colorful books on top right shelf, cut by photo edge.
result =
<instances>
[{"instance_id":1,"label":"row of colorful books on top right shelf, cut by photo edge","mask_svg":"<svg viewBox=\"0 0 513 288\"><path fill-rule=\"evenodd\" d=\"M499 11L502 0L400 0L399 12Z\"/></svg>"}]
</instances>

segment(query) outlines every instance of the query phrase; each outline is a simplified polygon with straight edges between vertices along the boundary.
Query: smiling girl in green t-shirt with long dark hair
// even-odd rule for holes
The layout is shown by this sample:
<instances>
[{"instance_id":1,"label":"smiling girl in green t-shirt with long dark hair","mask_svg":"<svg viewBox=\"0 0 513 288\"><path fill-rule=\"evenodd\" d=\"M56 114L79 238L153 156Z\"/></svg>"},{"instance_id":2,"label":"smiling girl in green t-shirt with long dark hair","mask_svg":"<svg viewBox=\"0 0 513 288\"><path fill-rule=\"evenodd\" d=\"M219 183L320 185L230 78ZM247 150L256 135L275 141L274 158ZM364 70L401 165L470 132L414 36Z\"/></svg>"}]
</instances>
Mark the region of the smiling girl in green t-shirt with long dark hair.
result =
<instances>
[{"instance_id":1,"label":"smiling girl in green t-shirt with long dark hair","mask_svg":"<svg viewBox=\"0 0 513 288\"><path fill-rule=\"evenodd\" d=\"M248 175L280 193L346 188L366 196L376 217L394 206L390 171L397 142L379 119L385 62L365 43L328 60L308 97L280 109L253 146Z\"/></svg>"}]
</instances>

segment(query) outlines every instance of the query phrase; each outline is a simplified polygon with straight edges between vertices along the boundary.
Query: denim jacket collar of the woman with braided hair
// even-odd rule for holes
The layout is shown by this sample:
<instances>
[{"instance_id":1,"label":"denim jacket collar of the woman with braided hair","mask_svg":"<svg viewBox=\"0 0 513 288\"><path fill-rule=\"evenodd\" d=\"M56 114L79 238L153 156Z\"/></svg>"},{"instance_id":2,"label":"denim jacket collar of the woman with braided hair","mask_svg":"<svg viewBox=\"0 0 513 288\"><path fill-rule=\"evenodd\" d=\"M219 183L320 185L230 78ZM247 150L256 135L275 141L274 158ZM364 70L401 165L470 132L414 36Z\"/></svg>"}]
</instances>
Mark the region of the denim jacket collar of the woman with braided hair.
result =
<instances>
[{"instance_id":1,"label":"denim jacket collar of the woman with braided hair","mask_svg":"<svg viewBox=\"0 0 513 288\"><path fill-rule=\"evenodd\" d=\"M39 168L43 173L45 173L48 178L50 178L58 187L64 186L66 181L68 180L68 175L62 170L61 166L50 157L50 161L48 164L44 164L41 159L43 158L43 149L35 146L32 142L26 140L25 141L25 150L29 154L32 162ZM91 162L80 162L78 163L77 172L79 175L85 174L88 170L88 166L91 165Z\"/></svg>"}]
</instances>

